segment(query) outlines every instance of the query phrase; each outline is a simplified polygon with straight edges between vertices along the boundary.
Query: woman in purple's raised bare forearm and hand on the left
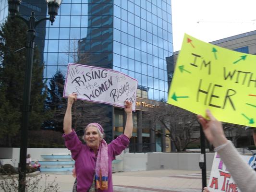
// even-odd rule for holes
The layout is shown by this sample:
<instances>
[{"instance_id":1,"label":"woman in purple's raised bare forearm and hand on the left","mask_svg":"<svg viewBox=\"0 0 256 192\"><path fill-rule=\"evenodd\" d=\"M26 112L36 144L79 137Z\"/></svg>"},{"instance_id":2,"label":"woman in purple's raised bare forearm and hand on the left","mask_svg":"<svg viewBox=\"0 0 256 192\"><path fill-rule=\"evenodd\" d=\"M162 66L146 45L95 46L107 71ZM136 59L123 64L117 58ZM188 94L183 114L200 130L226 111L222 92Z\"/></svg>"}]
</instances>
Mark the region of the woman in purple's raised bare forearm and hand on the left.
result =
<instances>
[{"instance_id":1,"label":"woman in purple's raised bare forearm and hand on the left","mask_svg":"<svg viewBox=\"0 0 256 192\"><path fill-rule=\"evenodd\" d=\"M74 101L76 101L76 96L77 94L73 93L70 94L68 97L67 109L63 121L63 131L65 132L65 134L69 134L72 132L72 105Z\"/></svg>"}]
</instances>

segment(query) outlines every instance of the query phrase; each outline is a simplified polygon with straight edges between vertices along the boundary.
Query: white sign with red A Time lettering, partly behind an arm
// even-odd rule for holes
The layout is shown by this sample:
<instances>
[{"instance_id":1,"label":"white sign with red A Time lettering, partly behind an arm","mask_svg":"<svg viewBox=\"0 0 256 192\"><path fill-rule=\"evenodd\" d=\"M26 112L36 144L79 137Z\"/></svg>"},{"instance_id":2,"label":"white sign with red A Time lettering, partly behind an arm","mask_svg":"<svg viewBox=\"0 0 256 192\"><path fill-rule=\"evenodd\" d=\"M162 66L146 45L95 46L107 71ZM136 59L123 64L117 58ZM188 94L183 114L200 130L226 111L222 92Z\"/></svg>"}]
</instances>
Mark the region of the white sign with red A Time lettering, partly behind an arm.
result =
<instances>
[{"instance_id":1,"label":"white sign with red A Time lettering, partly behind an arm","mask_svg":"<svg viewBox=\"0 0 256 192\"><path fill-rule=\"evenodd\" d=\"M250 167L256 169L256 156L242 157ZM235 159L230 160L235 161ZM241 192L217 153L215 153L214 156L211 176L207 188L210 192Z\"/></svg>"}]
</instances>

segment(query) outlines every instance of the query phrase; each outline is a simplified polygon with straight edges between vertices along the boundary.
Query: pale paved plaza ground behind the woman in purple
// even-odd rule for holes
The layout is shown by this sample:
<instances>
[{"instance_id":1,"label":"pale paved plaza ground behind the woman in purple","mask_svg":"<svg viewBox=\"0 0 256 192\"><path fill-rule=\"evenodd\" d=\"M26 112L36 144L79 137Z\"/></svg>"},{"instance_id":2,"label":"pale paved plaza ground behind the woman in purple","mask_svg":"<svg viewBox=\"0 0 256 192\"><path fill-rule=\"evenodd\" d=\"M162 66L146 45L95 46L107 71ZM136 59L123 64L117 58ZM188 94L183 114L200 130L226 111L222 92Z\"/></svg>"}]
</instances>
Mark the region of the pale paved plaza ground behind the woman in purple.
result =
<instances>
[{"instance_id":1,"label":"pale paved plaza ground behind the woman in purple","mask_svg":"<svg viewBox=\"0 0 256 192\"><path fill-rule=\"evenodd\" d=\"M152 170L113 173L114 192L201 192L201 170ZM210 173L207 172L207 179ZM60 192L72 192L72 175L50 174L49 181L56 181Z\"/></svg>"}]
</instances>

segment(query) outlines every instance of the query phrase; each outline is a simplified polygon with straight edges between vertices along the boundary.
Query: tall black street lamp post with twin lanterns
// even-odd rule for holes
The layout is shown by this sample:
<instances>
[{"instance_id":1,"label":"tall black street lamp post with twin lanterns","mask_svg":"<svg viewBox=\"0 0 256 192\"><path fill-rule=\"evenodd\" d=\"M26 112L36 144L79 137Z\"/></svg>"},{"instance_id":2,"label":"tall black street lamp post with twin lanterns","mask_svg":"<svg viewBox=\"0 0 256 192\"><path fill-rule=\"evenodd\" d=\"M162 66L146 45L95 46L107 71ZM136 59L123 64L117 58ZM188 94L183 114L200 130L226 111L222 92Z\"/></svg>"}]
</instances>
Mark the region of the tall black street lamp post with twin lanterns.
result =
<instances>
[{"instance_id":1,"label":"tall black street lamp post with twin lanterns","mask_svg":"<svg viewBox=\"0 0 256 192\"><path fill-rule=\"evenodd\" d=\"M34 12L31 12L29 20L17 15L19 12L19 6L21 0L8 0L8 11L11 18L18 17L23 20L28 27L26 45L24 48L26 51L26 67L25 67L25 79L24 79L24 94L22 105L22 122L21 122L21 146L20 146L20 163L19 163L19 192L25 192L25 179L26 179L26 153L27 153L27 127L29 120L29 113L31 111L30 105L30 92L31 92L31 78L33 57L35 48L36 26L44 20L50 20L51 25L55 20L55 16L58 14L58 9L61 5L61 0L46 0L48 5L48 14L50 17L40 19L36 21Z\"/></svg>"}]
</instances>

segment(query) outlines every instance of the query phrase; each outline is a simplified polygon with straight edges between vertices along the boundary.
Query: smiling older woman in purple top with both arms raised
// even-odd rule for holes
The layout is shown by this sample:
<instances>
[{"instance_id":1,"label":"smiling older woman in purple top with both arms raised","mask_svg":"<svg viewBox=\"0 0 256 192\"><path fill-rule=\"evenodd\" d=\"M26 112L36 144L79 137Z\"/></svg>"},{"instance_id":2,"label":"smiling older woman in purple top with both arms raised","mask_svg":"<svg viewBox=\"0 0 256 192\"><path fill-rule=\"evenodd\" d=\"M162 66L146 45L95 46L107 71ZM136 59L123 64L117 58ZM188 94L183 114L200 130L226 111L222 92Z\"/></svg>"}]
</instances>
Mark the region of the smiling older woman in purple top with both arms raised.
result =
<instances>
[{"instance_id":1,"label":"smiling older woman in purple top with both arms raised","mask_svg":"<svg viewBox=\"0 0 256 192\"><path fill-rule=\"evenodd\" d=\"M103 139L104 130L98 123L85 127L85 145L72 130L72 105L76 94L68 97L68 104L63 122L63 137L66 147L75 160L77 192L113 192L112 160L128 146L133 132L132 103L125 101L127 114L124 133L107 144Z\"/></svg>"}]
</instances>

